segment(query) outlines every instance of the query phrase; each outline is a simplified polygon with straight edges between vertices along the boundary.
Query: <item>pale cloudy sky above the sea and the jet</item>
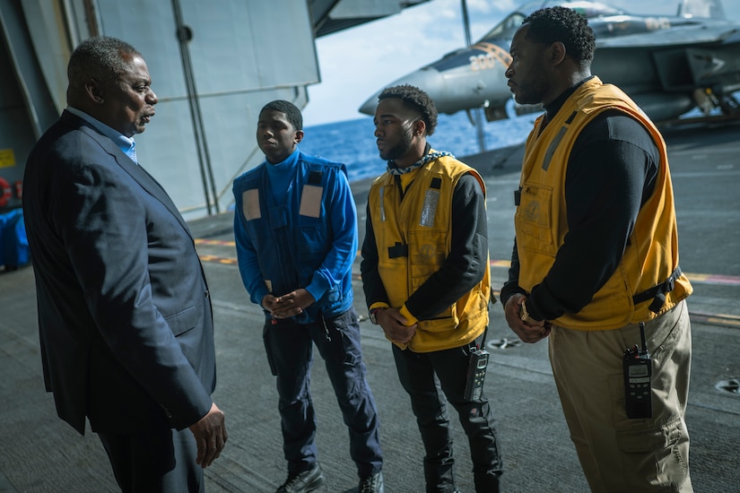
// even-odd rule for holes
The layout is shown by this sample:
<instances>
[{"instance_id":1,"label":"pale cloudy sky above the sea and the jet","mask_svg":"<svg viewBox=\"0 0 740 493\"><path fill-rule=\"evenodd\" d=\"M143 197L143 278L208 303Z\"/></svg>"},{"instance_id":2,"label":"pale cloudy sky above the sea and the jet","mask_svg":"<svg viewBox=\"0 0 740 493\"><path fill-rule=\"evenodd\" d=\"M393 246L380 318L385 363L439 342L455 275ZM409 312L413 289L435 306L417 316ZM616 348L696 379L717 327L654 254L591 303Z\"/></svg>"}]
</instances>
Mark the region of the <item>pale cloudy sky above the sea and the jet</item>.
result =
<instances>
[{"instance_id":1,"label":"pale cloudy sky above the sea and the jet","mask_svg":"<svg viewBox=\"0 0 740 493\"><path fill-rule=\"evenodd\" d=\"M740 2L719 0L740 22ZM526 0L467 0L471 38L480 39ZM681 0L606 0L627 13L675 15ZM322 82L309 86L305 125L352 120L372 94L465 45L460 0L431 0L375 22L317 39Z\"/></svg>"}]
</instances>

